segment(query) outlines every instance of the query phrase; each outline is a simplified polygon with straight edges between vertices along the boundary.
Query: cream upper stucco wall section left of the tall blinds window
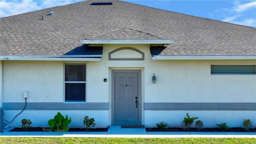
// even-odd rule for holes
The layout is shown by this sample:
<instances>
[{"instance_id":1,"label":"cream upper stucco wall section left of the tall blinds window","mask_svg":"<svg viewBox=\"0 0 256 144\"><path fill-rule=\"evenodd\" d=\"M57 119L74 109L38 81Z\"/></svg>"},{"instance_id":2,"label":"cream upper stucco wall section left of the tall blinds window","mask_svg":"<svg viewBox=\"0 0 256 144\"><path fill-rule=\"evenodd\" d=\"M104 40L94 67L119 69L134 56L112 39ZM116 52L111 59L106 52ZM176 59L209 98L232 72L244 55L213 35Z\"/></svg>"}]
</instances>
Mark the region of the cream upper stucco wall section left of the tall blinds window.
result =
<instances>
[{"instance_id":1,"label":"cream upper stucco wall section left of the tall blinds window","mask_svg":"<svg viewBox=\"0 0 256 144\"><path fill-rule=\"evenodd\" d=\"M3 61L3 102L63 102L63 62Z\"/></svg>"}]
</instances>

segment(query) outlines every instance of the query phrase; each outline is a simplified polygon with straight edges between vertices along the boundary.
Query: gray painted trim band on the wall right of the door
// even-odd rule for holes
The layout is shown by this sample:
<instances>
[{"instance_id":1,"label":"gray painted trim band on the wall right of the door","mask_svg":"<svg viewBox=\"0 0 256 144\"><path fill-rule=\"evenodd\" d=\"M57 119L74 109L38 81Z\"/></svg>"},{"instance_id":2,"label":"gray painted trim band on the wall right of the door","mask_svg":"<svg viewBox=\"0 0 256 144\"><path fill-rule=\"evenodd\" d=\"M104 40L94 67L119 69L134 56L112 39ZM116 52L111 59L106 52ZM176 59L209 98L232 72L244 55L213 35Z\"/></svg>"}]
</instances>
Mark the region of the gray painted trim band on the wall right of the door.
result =
<instances>
[{"instance_id":1,"label":"gray painted trim band on the wall right of the door","mask_svg":"<svg viewBox=\"0 0 256 144\"><path fill-rule=\"evenodd\" d=\"M148 102L144 110L256 110L255 102Z\"/></svg>"}]
</instances>

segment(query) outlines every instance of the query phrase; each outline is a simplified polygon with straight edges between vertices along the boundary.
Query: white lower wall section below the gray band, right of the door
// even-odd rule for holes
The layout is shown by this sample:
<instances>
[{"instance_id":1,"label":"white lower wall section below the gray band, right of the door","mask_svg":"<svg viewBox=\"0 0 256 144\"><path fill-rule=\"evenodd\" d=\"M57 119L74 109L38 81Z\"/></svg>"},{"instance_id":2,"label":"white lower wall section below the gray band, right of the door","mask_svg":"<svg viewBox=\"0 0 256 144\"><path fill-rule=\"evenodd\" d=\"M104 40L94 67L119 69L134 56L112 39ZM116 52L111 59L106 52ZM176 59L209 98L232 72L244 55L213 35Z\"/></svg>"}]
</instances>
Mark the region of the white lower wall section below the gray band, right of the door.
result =
<instances>
[{"instance_id":1,"label":"white lower wall section below the gray band, right of the door","mask_svg":"<svg viewBox=\"0 0 256 144\"><path fill-rule=\"evenodd\" d=\"M145 126L157 127L156 123L166 122L169 127L182 128L182 120L186 117L186 113L190 117L198 117L196 120L202 120L204 128L218 127L216 124L226 122L228 126L243 128L244 119L250 118L253 126L256 125L256 111L244 110L145 110ZM192 128L195 128L195 122Z\"/></svg>"}]
</instances>

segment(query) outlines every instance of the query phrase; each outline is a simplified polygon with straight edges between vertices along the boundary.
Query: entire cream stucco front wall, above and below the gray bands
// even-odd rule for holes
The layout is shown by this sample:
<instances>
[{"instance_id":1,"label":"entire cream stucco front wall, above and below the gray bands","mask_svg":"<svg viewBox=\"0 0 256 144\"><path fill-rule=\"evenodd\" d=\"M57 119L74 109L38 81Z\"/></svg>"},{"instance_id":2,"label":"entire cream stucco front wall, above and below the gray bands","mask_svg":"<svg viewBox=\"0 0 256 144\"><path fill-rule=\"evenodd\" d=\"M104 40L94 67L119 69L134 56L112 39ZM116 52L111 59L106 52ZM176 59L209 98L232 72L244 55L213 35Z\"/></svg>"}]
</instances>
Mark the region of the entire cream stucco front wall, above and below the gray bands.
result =
<instances>
[{"instance_id":1,"label":"entire cream stucco front wall, above and below the gray bands","mask_svg":"<svg viewBox=\"0 0 256 144\"><path fill-rule=\"evenodd\" d=\"M85 62L86 102L109 102L110 109L62 110L62 114L72 117L72 127L82 126L80 121L85 115L95 118L96 126L111 125L111 70L125 69L142 70L142 124L153 127L165 121L170 126L178 127L186 112L199 117L208 127L222 122L229 126L241 126L241 121L247 118L256 122L255 110L144 111L143 107L144 102L256 102L256 75L210 74L211 64L256 64L256 60L151 60L148 44L103 46L101 61ZM144 52L145 60L109 61L108 53L122 47ZM77 62L2 61L2 102L24 102L24 91L28 91L27 102L64 102L64 63ZM152 83L153 73L156 74L155 84ZM103 82L104 78L107 82ZM27 118L32 120L34 126L47 126L47 121L57 111L25 110L11 125L20 127L20 120ZM19 112L6 110L5 118L10 121Z\"/></svg>"}]
</instances>

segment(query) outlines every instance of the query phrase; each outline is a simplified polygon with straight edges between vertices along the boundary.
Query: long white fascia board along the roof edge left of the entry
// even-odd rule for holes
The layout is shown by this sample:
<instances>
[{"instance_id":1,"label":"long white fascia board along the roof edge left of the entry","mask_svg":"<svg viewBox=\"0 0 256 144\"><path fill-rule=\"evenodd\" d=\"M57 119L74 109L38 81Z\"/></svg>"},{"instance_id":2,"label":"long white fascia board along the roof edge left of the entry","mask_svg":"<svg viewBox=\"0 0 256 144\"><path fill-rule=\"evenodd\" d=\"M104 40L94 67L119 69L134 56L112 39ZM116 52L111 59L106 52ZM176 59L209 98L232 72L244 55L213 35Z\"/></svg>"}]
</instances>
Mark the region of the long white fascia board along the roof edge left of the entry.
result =
<instances>
[{"instance_id":1,"label":"long white fascia board along the roof edge left of the entry","mask_svg":"<svg viewBox=\"0 0 256 144\"><path fill-rule=\"evenodd\" d=\"M100 58L83 58L100 57ZM0 56L0 60L42 60L42 61L101 61L102 55L86 56Z\"/></svg>"}]
</instances>

